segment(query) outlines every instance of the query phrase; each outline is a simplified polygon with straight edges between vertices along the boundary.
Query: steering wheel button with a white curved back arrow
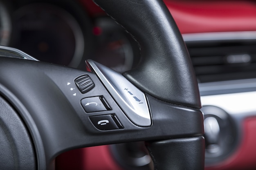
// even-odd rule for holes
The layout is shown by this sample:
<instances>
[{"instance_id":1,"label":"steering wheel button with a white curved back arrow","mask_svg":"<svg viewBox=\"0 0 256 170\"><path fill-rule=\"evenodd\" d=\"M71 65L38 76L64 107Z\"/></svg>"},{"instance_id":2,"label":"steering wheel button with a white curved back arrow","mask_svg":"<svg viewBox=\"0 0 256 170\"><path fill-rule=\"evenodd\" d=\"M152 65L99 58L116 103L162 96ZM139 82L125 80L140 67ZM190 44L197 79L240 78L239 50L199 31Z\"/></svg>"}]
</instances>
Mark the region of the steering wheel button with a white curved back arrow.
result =
<instances>
[{"instance_id":1,"label":"steering wheel button with a white curved back arrow","mask_svg":"<svg viewBox=\"0 0 256 170\"><path fill-rule=\"evenodd\" d=\"M86 113L112 110L103 96L84 98L81 104Z\"/></svg>"}]
</instances>

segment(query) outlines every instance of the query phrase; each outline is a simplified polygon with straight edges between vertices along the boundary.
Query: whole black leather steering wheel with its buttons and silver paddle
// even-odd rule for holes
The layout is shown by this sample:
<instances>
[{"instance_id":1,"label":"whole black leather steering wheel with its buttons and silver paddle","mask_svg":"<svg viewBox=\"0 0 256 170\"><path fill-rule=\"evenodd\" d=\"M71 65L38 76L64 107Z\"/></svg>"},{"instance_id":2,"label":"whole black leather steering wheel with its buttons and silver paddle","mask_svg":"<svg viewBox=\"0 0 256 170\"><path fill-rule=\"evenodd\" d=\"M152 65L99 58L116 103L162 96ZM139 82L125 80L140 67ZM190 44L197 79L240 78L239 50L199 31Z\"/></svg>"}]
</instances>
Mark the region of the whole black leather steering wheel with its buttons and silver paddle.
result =
<instances>
[{"instance_id":1,"label":"whole black leather steering wheel with its buttons and silver paddle","mask_svg":"<svg viewBox=\"0 0 256 170\"><path fill-rule=\"evenodd\" d=\"M146 141L157 170L204 169L198 84L164 2L95 2L137 40L139 65L80 71L1 47L29 60L0 57L0 169L54 170L67 150L131 141Z\"/></svg>"}]
</instances>

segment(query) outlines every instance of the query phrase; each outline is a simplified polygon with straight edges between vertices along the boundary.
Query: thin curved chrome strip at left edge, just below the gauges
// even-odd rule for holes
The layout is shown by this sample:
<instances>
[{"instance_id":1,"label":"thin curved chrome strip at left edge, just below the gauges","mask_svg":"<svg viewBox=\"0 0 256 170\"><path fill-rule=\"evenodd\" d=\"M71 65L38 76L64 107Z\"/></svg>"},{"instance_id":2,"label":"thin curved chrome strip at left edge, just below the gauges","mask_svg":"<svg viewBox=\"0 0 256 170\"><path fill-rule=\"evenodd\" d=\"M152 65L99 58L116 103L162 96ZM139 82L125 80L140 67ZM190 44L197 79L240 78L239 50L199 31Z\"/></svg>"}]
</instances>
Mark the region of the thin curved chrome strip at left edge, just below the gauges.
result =
<instances>
[{"instance_id":1,"label":"thin curved chrome strip at left edge, just below the gauges","mask_svg":"<svg viewBox=\"0 0 256 170\"><path fill-rule=\"evenodd\" d=\"M2 55L1 53L4 53L4 55ZM18 49L14 49L14 48L7 47L7 46L0 46L0 57L11 57L11 58L20 58L20 59L25 59L25 60L39 61L36 58L31 57L30 55L28 55Z\"/></svg>"}]
</instances>

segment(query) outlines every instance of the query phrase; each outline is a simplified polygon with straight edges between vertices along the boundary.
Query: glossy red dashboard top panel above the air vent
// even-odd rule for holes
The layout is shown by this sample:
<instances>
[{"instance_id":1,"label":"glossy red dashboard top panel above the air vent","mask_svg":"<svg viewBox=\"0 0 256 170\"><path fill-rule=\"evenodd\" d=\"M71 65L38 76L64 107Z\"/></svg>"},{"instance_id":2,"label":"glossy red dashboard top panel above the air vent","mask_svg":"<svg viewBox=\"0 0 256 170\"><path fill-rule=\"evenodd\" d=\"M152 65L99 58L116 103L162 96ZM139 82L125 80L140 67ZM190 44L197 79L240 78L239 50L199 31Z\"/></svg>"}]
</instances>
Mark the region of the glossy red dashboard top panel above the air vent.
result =
<instances>
[{"instance_id":1,"label":"glossy red dashboard top panel above the air vent","mask_svg":"<svg viewBox=\"0 0 256 170\"><path fill-rule=\"evenodd\" d=\"M165 1L181 33L255 31L256 3Z\"/></svg>"}]
</instances>

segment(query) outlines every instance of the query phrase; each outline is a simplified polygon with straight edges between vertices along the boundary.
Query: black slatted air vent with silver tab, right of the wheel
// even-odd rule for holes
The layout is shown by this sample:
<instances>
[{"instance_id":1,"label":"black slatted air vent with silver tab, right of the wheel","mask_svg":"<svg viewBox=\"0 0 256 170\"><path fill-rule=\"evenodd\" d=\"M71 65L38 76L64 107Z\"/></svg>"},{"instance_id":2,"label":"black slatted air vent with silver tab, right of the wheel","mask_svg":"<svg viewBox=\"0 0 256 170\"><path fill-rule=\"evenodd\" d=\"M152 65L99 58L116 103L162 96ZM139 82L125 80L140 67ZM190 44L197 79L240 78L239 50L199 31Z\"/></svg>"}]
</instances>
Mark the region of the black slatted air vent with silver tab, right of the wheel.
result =
<instances>
[{"instance_id":1,"label":"black slatted air vent with silver tab, right of the wheel","mask_svg":"<svg viewBox=\"0 0 256 170\"><path fill-rule=\"evenodd\" d=\"M256 78L256 40L186 42L198 82Z\"/></svg>"}]
</instances>

